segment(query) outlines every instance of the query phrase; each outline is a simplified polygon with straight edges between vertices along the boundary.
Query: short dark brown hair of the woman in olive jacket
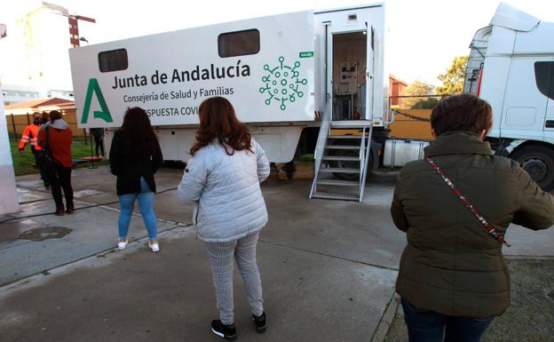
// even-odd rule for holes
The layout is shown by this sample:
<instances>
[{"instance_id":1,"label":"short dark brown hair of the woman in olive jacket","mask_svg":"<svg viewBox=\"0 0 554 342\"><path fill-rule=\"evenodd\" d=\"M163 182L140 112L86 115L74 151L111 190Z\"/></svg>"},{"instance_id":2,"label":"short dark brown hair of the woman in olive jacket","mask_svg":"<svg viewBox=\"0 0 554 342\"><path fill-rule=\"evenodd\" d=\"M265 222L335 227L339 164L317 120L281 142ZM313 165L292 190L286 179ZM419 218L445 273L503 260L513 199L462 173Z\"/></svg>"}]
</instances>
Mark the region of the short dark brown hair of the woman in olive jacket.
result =
<instances>
[{"instance_id":1,"label":"short dark brown hair of the woman in olive jacket","mask_svg":"<svg viewBox=\"0 0 554 342\"><path fill-rule=\"evenodd\" d=\"M442 99L431 112L431 127L439 136L447 131L490 131L493 110L484 99L472 94L451 95Z\"/></svg>"}]
</instances>

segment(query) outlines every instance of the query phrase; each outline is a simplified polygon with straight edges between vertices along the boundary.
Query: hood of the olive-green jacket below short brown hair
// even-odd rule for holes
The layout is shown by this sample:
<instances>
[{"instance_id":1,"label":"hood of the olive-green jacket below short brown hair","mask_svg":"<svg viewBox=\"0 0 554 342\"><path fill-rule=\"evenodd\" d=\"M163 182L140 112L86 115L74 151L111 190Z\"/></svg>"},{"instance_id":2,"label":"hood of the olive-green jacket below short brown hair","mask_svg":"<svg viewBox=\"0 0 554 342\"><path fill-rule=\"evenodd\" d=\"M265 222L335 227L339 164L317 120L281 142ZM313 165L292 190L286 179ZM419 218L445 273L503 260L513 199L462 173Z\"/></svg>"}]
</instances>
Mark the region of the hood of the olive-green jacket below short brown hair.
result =
<instances>
[{"instance_id":1,"label":"hood of the olive-green jacket below short brown hair","mask_svg":"<svg viewBox=\"0 0 554 342\"><path fill-rule=\"evenodd\" d=\"M424 149L425 157L432 155L494 155L487 141L472 131L447 131Z\"/></svg>"}]
</instances>

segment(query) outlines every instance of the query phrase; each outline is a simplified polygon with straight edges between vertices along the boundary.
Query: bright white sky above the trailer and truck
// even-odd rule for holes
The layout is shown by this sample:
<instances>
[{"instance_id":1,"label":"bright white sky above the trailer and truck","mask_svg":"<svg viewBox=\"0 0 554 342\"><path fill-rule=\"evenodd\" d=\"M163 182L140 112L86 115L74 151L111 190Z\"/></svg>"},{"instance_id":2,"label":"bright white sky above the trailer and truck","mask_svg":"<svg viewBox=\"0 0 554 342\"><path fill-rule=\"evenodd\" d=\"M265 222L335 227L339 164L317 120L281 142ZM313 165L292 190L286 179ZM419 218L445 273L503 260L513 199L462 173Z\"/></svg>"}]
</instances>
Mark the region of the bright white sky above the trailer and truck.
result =
<instances>
[{"instance_id":1,"label":"bright white sky above the trailer and truck","mask_svg":"<svg viewBox=\"0 0 554 342\"><path fill-rule=\"evenodd\" d=\"M349 5L372 4L371 0L51 0L70 13L91 17L95 24L80 22L80 34L90 44L133 36L193 28L220 22L308 9L321 10ZM505 0L507 4L541 20L554 21L553 0ZM3 0L0 23L8 25L38 7L36 0ZM385 41L390 72L411 83L421 80L439 85L455 56L470 52L471 38L488 25L498 0L384 0L389 36ZM186 46L184 48L191 48ZM4 56L3 56L4 55ZM0 54L4 66L17 62ZM5 63L5 64L4 64Z\"/></svg>"}]
</instances>

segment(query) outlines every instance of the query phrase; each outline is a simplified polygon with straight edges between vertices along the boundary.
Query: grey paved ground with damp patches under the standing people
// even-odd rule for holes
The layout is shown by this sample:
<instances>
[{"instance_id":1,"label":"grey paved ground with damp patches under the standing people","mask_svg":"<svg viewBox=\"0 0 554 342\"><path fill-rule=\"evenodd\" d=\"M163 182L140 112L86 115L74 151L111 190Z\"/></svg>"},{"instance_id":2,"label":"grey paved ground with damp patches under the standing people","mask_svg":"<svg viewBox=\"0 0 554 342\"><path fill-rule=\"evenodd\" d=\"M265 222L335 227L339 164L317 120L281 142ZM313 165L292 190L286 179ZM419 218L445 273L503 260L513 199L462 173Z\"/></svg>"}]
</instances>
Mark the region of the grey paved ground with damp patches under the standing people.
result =
<instances>
[{"instance_id":1,"label":"grey paved ground with damp patches under the standing people","mask_svg":"<svg viewBox=\"0 0 554 342\"><path fill-rule=\"evenodd\" d=\"M208 258L190 227L192 206L175 187L182 171L157 174L158 254L132 219L115 251L115 178L106 167L74 171L79 208L51 215L36 176L18 178L21 212L0 217L2 341L214 341ZM405 235L389 215L394 175L368 180L363 203L309 200L309 180L270 179L270 214L258 244L268 341L382 340L396 310L394 280ZM42 229L42 230L34 230ZM508 238L513 255L552 254L554 229ZM259 339L235 279L240 340Z\"/></svg>"}]
</instances>

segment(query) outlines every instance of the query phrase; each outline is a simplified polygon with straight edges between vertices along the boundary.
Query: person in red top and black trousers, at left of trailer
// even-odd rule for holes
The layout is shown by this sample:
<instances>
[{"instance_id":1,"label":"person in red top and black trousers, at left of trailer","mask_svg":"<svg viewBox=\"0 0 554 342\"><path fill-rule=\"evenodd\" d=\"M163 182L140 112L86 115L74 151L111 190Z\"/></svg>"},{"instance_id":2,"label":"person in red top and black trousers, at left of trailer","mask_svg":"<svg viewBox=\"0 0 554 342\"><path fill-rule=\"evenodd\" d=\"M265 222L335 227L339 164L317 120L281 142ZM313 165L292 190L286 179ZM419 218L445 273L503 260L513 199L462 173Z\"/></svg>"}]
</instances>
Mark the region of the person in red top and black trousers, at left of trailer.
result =
<instances>
[{"instance_id":1,"label":"person in red top and black trousers, at left of trailer","mask_svg":"<svg viewBox=\"0 0 554 342\"><path fill-rule=\"evenodd\" d=\"M47 138L48 137L48 138ZM49 140L48 142L46 140ZM51 154L54 159L54 168L49 173L51 192L56 202L56 215L64 214L64 205L61 200L61 188L66 197L66 212L72 214L73 206L73 188L71 187L71 168L73 159L71 158L71 141L73 132L67 123L61 118L61 113L57 110L50 112L50 121L41 127L38 134L38 145L40 147L50 146Z\"/></svg>"}]
</instances>

